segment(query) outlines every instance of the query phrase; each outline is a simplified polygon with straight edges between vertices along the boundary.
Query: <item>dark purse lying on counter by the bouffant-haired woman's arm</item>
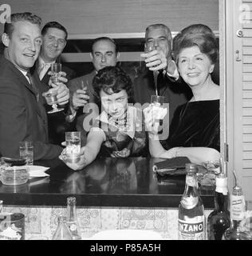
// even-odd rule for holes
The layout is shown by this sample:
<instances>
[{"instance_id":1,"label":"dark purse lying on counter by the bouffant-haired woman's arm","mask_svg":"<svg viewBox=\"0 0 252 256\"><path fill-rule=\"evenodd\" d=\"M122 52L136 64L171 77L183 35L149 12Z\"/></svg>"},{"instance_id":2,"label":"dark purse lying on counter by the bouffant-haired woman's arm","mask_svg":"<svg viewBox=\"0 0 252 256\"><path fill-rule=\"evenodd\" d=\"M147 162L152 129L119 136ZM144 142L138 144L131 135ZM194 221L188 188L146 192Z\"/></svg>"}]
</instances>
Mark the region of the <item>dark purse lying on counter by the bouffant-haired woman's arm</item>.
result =
<instances>
[{"instance_id":1,"label":"dark purse lying on counter by the bouffant-haired woman's arm","mask_svg":"<svg viewBox=\"0 0 252 256\"><path fill-rule=\"evenodd\" d=\"M185 175L185 165L191 162L187 157L169 158L161 162L156 162L152 170L159 175Z\"/></svg>"}]
</instances>

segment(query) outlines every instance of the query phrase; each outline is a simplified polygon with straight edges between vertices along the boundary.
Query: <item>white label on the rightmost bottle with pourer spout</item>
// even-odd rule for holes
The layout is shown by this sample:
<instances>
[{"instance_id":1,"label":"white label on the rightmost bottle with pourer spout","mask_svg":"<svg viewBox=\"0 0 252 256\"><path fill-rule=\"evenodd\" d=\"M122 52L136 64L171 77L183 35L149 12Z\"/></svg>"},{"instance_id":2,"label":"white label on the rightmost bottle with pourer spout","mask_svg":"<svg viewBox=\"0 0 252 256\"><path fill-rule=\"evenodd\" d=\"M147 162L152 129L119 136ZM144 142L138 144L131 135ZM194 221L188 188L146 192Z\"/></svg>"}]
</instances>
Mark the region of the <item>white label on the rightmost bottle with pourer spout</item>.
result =
<instances>
[{"instance_id":1,"label":"white label on the rightmost bottle with pourer spout","mask_svg":"<svg viewBox=\"0 0 252 256\"><path fill-rule=\"evenodd\" d=\"M243 195L231 195L230 218L241 221L245 213L245 201Z\"/></svg>"}]
</instances>

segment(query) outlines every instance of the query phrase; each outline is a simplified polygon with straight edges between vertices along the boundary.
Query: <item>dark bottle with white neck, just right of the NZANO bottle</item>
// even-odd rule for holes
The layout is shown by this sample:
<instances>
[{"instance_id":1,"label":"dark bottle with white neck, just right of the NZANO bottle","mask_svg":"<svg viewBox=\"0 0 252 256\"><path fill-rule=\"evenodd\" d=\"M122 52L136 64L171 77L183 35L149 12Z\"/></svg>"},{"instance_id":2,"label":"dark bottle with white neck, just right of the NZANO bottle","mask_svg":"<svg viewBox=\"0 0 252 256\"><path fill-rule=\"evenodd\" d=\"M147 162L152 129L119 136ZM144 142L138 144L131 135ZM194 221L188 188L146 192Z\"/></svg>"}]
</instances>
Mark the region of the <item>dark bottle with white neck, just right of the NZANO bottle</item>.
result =
<instances>
[{"instance_id":1,"label":"dark bottle with white neck, just right of the NZANO bottle","mask_svg":"<svg viewBox=\"0 0 252 256\"><path fill-rule=\"evenodd\" d=\"M230 212L227 208L227 178L221 173L216 177L215 210L207 218L208 240L222 240L222 235L230 226Z\"/></svg>"}]
</instances>

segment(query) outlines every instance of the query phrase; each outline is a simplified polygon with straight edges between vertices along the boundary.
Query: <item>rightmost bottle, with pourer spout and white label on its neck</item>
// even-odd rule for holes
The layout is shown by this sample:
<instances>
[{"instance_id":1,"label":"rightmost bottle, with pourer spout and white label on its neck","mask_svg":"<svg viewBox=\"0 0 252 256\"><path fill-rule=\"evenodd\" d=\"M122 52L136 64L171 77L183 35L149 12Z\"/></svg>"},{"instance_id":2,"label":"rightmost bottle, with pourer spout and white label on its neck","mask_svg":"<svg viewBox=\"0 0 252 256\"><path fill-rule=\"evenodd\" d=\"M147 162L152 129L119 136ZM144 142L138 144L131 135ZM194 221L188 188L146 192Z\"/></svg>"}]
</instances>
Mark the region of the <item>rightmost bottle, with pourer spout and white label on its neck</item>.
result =
<instances>
[{"instance_id":1,"label":"rightmost bottle, with pourer spout and white label on its neck","mask_svg":"<svg viewBox=\"0 0 252 256\"><path fill-rule=\"evenodd\" d=\"M223 240L250 240L250 234L242 230L240 223L245 218L245 200L242 188L237 184L233 187L230 197L230 219L231 226L228 228L222 239Z\"/></svg>"}]
</instances>

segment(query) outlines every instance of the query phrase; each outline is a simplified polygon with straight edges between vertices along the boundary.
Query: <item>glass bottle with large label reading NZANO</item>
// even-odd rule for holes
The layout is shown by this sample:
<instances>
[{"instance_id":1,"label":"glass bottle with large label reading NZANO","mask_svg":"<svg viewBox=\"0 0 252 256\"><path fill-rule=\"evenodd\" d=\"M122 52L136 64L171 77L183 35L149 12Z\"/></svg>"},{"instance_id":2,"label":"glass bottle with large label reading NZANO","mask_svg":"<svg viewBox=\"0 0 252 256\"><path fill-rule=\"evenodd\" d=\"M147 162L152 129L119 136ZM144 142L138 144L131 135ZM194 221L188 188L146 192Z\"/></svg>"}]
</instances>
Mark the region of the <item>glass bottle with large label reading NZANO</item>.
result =
<instances>
[{"instance_id":1,"label":"glass bottle with large label reading NZANO","mask_svg":"<svg viewBox=\"0 0 252 256\"><path fill-rule=\"evenodd\" d=\"M198 192L197 166L186 164L186 186L179 203L179 240L205 240L205 215Z\"/></svg>"}]
</instances>

